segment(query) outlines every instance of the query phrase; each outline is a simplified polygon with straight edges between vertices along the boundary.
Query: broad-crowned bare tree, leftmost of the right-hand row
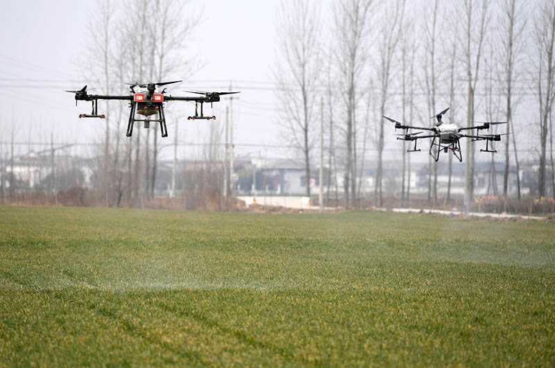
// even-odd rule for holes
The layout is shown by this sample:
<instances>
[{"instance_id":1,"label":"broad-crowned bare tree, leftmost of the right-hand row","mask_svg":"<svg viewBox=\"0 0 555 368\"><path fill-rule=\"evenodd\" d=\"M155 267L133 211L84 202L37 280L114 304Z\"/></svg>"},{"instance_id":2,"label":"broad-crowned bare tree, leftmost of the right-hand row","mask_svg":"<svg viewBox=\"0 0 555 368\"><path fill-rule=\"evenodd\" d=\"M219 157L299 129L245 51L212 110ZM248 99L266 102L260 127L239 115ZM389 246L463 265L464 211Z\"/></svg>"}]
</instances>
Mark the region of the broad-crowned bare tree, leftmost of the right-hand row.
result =
<instances>
[{"instance_id":1,"label":"broad-crowned bare tree, leftmost of the right-hand row","mask_svg":"<svg viewBox=\"0 0 555 368\"><path fill-rule=\"evenodd\" d=\"M306 195L310 196L311 127L316 119L314 91L321 71L318 8L308 0L282 3L278 15L279 60L275 78L287 136L302 152Z\"/></svg>"}]
</instances>

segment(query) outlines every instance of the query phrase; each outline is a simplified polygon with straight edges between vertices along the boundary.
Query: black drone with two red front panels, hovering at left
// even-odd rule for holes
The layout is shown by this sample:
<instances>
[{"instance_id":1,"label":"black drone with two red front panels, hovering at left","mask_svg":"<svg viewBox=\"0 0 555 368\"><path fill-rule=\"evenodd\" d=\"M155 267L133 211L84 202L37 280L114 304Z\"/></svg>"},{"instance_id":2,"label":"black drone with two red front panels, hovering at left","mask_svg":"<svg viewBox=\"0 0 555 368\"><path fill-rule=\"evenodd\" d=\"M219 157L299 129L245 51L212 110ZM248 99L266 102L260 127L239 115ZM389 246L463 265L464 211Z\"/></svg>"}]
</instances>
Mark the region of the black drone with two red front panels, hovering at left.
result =
<instances>
[{"instance_id":1,"label":"black drone with two red front panels, hovering at left","mask_svg":"<svg viewBox=\"0 0 555 368\"><path fill-rule=\"evenodd\" d=\"M75 94L75 105L77 101L91 101L92 112L90 114L79 114L79 118L99 118L106 119L104 114L99 114L99 100L126 100L129 101L131 108L129 114L129 122L127 125L127 137L133 135L133 124L137 121L144 122L144 128L149 128L151 121L160 123L160 132L163 137L168 137L168 130L166 127L166 116L164 114L164 103L169 101L189 101L195 103L195 114L187 117L187 120L196 119L216 119L216 116L205 116L203 112L203 104L213 103L220 100L220 96L225 94L238 94L239 92L205 92L205 91L185 91L190 94L198 94L200 96L165 96L165 85L172 83L182 82L181 80L173 80L172 82L156 82L156 83L127 83L130 87L130 94L126 96L111 96L111 95L97 95L88 94L87 86L79 89L78 91L65 91ZM198 114L198 105L200 104L200 114ZM135 115L139 114L145 119L136 119ZM146 119L147 116L157 115L158 119Z\"/></svg>"}]
</instances>

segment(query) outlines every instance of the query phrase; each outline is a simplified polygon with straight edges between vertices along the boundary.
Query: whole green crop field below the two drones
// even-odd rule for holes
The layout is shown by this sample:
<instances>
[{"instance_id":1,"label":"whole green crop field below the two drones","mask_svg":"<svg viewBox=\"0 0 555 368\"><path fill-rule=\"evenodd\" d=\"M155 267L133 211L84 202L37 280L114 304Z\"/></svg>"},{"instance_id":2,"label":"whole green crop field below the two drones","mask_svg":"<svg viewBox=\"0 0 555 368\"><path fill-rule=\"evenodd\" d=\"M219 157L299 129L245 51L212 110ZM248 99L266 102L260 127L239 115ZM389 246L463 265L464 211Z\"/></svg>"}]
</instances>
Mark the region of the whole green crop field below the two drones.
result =
<instances>
[{"instance_id":1,"label":"whole green crop field below the two drones","mask_svg":"<svg viewBox=\"0 0 555 368\"><path fill-rule=\"evenodd\" d=\"M555 223L0 207L0 366L555 365Z\"/></svg>"}]
</instances>

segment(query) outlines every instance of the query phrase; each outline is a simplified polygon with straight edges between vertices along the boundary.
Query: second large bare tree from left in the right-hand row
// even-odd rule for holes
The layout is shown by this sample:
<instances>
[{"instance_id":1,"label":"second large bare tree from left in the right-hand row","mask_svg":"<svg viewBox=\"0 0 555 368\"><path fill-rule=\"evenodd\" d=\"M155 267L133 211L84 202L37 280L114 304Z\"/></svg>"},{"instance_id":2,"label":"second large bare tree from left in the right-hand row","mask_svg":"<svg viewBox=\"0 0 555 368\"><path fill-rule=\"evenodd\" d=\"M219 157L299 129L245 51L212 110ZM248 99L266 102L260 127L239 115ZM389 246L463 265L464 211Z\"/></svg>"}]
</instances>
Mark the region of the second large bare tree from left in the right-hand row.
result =
<instances>
[{"instance_id":1,"label":"second large bare tree from left in the right-hand row","mask_svg":"<svg viewBox=\"0 0 555 368\"><path fill-rule=\"evenodd\" d=\"M342 0L336 4L334 30L337 37L336 65L341 79L339 80L342 95L345 96L345 175L343 178L345 207L350 206L350 187L355 182L355 166L353 164L353 127L357 101L358 81L364 73L366 64L366 38L370 26L370 6L372 0ZM352 191L355 204L355 191Z\"/></svg>"}]
</instances>

